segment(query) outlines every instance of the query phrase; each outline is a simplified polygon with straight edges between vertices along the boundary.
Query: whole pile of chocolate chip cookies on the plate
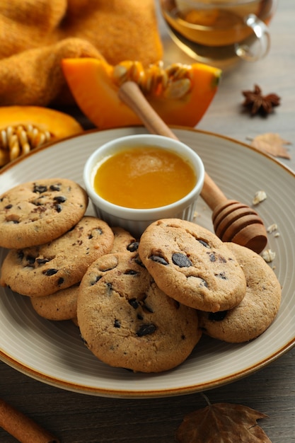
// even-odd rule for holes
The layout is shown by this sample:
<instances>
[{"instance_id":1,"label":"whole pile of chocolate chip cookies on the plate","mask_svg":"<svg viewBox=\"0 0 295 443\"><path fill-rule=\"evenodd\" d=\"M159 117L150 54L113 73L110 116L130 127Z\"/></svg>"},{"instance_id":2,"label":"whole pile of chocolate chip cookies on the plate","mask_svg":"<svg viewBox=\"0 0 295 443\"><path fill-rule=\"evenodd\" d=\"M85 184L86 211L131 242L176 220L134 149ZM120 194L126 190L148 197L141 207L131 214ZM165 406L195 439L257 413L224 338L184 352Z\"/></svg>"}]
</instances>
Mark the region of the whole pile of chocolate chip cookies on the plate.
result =
<instances>
[{"instance_id":1,"label":"whole pile of chocolate chip cookies on the plate","mask_svg":"<svg viewBox=\"0 0 295 443\"><path fill-rule=\"evenodd\" d=\"M85 215L71 180L18 185L0 197L1 285L50 320L73 320L98 359L136 372L181 364L202 333L258 337L281 288L260 255L192 222L162 219L139 241Z\"/></svg>"}]
</instances>

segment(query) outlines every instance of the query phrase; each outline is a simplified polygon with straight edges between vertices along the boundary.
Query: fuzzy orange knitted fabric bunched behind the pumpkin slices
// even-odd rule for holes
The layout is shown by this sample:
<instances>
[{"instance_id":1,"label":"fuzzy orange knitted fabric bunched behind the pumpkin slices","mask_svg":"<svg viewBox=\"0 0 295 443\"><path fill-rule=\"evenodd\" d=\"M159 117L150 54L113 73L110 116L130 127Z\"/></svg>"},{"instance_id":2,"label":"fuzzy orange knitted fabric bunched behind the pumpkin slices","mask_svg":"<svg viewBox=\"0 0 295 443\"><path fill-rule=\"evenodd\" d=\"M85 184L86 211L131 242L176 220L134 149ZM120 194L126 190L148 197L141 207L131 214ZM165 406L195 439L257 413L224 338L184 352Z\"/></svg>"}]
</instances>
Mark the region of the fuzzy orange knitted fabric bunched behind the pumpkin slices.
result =
<instances>
[{"instance_id":1,"label":"fuzzy orange knitted fabric bunched behind the pumpkin slices","mask_svg":"<svg viewBox=\"0 0 295 443\"><path fill-rule=\"evenodd\" d=\"M0 2L0 105L70 101L62 58L147 66L162 55L154 0Z\"/></svg>"}]
</instances>

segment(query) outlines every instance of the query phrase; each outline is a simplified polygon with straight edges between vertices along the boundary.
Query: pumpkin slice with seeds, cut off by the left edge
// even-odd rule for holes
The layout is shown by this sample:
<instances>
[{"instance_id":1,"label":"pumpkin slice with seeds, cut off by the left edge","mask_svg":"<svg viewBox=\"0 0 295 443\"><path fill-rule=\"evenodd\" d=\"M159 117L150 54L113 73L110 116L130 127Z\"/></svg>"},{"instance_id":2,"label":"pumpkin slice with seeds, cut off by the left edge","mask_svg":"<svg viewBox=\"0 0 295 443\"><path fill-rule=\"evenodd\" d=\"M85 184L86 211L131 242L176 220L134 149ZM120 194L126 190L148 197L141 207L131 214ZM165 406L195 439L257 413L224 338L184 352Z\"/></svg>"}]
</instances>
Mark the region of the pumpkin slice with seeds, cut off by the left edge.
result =
<instances>
[{"instance_id":1,"label":"pumpkin slice with seeds, cut off by the left edge","mask_svg":"<svg viewBox=\"0 0 295 443\"><path fill-rule=\"evenodd\" d=\"M0 166L54 139L79 134L73 117L40 106L0 107Z\"/></svg>"}]
</instances>

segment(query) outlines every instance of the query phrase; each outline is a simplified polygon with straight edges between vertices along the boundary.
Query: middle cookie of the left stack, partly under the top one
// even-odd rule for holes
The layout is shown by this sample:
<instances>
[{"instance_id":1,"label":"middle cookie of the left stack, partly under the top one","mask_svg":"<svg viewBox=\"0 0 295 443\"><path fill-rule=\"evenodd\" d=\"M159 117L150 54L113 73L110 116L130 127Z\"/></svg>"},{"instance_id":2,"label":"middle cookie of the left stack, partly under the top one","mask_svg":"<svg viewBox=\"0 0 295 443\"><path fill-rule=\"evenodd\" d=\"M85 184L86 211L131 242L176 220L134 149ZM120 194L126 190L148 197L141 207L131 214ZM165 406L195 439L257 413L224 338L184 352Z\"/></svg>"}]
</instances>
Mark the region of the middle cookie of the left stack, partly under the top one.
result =
<instances>
[{"instance_id":1,"label":"middle cookie of the left stack, partly under the top one","mask_svg":"<svg viewBox=\"0 0 295 443\"><path fill-rule=\"evenodd\" d=\"M9 251L2 263L0 283L30 297L53 294L80 282L88 266L111 251L113 241L108 224L84 216L50 243Z\"/></svg>"}]
</instances>

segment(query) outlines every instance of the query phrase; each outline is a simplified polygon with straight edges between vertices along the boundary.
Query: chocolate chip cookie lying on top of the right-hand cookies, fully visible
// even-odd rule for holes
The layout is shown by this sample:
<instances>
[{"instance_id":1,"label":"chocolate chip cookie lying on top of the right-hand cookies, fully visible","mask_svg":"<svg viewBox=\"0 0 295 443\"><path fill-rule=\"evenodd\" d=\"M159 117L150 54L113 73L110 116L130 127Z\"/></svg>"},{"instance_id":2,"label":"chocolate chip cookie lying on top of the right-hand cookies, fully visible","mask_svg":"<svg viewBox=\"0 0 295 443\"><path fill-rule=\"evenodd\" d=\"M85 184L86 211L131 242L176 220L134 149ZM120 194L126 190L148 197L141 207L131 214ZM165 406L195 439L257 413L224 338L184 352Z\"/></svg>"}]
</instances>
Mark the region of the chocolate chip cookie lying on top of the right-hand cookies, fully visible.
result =
<instances>
[{"instance_id":1,"label":"chocolate chip cookie lying on top of the right-hand cookies, fully visible","mask_svg":"<svg viewBox=\"0 0 295 443\"><path fill-rule=\"evenodd\" d=\"M192 308L224 311L245 296L245 275L233 252L195 223L152 223L140 238L139 256L163 292Z\"/></svg>"}]
</instances>

